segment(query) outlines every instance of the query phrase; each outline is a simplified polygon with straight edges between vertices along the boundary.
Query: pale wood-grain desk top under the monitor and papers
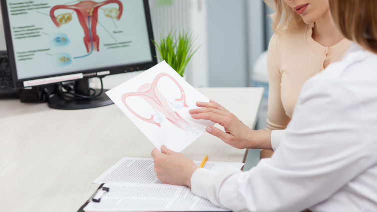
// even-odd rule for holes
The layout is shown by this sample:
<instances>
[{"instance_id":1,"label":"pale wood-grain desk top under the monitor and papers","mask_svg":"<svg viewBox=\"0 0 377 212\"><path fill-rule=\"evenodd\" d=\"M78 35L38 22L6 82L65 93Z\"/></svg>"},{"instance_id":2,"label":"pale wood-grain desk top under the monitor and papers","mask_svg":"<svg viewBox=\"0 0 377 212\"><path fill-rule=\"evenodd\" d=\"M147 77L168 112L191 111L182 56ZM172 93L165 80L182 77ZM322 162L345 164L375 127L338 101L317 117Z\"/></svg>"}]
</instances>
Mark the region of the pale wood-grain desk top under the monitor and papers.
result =
<instances>
[{"instance_id":1,"label":"pale wood-grain desk top under the monitor and papers","mask_svg":"<svg viewBox=\"0 0 377 212\"><path fill-rule=\"evenodd\" d=\"M198 90L254 127L262 88ZM122 157L150 158L153 148L115 105L67 111L0 100L0 211L76 212L100 174ZM241 162L245 150L204 134L183 153Z\"/></svg>"}]
</instances>

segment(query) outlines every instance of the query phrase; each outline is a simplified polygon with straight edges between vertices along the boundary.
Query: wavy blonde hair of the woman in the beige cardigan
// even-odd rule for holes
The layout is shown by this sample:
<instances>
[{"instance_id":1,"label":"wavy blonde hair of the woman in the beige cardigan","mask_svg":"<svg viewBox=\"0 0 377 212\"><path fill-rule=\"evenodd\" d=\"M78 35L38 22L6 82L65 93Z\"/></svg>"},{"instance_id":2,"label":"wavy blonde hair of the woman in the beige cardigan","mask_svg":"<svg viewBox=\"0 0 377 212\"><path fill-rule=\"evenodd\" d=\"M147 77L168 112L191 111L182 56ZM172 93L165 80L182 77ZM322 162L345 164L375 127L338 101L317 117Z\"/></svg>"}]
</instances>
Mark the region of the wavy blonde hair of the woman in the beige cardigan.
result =
<instances>
[{"instance_id":1,"label":"wavy blonde hair of the woman in the beige cardigan","mask_svg":"<svg viewBox=\"0 0 377 212\"><path fill-rule=\"evenodd\" d=\"M298 15L283 0L264 0L266 4L274 10L271 14L272 31L279 33L285 30L297 29L306 26L302 17Z\"/></svg>"}]
</instances>

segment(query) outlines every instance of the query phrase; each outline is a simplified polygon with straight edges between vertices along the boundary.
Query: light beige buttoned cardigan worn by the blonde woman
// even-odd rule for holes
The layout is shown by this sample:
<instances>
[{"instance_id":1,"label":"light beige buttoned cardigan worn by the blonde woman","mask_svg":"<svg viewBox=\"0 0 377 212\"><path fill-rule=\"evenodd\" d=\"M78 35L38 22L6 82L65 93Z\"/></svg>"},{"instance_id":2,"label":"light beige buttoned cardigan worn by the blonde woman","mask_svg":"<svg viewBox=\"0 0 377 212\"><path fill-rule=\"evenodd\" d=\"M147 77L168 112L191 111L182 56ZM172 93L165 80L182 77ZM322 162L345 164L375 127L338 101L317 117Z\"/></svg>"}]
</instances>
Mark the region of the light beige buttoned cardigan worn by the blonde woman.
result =
<instances>
[{"instance_id":1,"label":"light beige buttoned cardigan worn by the blonde woman","mask_svg":"<svg viewBox=\"0 0 377 212\"><path fill-rule=\"evenodd\" d=\"M309 24L305 30L274 34L270 40L267 129L287 127L304 82L331 62L341 60L352 43L343 39L333 46L323 46L312 38L312 28Z\"/></svg>"}]
</instances>

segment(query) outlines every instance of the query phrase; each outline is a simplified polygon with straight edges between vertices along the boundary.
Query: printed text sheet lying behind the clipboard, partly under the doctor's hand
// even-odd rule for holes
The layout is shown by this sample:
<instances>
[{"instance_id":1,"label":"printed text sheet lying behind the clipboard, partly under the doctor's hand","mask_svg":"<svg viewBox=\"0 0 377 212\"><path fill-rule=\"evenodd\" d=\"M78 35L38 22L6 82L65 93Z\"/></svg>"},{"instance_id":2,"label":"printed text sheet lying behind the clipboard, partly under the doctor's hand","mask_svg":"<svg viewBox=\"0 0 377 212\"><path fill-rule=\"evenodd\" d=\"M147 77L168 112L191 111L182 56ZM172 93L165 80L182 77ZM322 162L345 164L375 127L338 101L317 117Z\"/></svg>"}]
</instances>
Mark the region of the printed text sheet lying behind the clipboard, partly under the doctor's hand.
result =
<instances>
[{"instance_id":1,"label":"printed text sheet lying behind the clipboard, partly under the doctor's hand","mask_svg":"<svg viewBox=\"0 0 377 212\"><path fill-rule=\"evenodd\" d=\"M201 161L194 161L197 165ZM220 172L227 168L241 169L243 163L211 162L207 161L204 168ZM122 158L110 169L99 176L93 183L161 183L153 170L154 163L151 158Z\"/></svg>"}]
</instances>

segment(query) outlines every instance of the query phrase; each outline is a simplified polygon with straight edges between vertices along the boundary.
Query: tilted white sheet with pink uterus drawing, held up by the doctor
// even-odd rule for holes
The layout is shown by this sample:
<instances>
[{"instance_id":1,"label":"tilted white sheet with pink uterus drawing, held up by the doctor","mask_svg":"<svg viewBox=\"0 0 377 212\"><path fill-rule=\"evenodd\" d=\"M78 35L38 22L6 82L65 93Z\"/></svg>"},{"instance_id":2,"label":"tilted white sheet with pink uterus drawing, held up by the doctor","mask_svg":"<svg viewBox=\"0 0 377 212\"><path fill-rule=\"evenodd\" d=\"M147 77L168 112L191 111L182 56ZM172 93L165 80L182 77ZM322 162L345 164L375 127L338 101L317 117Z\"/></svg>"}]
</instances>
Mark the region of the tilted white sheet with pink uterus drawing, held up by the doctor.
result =
<instances>
[{"instance_id":1,"label":"tilted white sheet with pink uterus drawing, held up by the doctor","mask_svg":"<svg viewBox=\"0 0 377 212\"><path fill-rule=\"evenodd\" d=\"M165 61L106 92L110 99L160 149L181 152L214 123L191 118L197 101L209 99Z\"/></svg>"}]
</instances>

